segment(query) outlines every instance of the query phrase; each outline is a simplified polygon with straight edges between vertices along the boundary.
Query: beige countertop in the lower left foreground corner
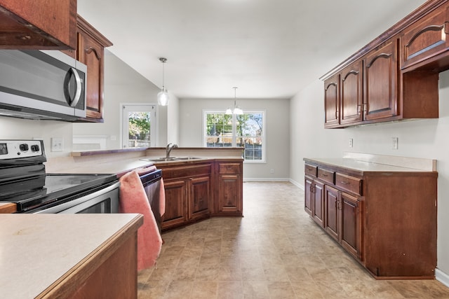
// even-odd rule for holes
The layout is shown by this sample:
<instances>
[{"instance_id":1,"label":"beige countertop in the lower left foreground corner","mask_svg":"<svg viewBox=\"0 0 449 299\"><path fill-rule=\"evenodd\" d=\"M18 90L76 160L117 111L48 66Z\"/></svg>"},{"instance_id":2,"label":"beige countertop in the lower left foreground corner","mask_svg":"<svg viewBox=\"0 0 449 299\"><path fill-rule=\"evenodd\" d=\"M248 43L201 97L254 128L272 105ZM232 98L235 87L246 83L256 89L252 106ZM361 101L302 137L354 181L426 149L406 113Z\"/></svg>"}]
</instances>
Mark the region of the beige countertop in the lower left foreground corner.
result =
<instances>
[{"instance_id":1,"label":"beige countertop in the lower left foreground corner","mask_svg":"<svg viewBox=\"0 0 449 299\"><path fill-rule=\"evenodd\" d=\"M35 298L139 214L0 214L0 297Z\"/></svg>"}]
</instances>

